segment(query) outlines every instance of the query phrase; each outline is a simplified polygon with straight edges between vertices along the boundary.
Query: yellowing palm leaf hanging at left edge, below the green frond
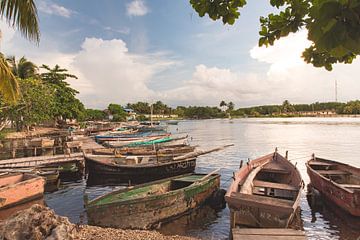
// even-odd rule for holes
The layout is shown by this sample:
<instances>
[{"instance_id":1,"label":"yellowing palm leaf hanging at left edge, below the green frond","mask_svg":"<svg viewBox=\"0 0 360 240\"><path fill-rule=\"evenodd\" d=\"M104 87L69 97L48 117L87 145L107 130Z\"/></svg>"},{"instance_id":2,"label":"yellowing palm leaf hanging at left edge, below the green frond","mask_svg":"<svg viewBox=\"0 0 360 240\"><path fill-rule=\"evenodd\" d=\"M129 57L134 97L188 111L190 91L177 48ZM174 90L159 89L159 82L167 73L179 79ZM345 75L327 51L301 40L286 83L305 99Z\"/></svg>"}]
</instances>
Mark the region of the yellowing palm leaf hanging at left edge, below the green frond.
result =
<instances>
[{"instance_id":1,"label":"yellowing palm leaf hanging at left edge, below the green frond","mask_svg":"<svg viewBox=\"0 0 360 240\"><path fill-rule=\"evenodd\" d=\"M15 102L19 96L18 81L3 56L0 56L0 92L9 102Z\"/></svg>"}]
</instances>

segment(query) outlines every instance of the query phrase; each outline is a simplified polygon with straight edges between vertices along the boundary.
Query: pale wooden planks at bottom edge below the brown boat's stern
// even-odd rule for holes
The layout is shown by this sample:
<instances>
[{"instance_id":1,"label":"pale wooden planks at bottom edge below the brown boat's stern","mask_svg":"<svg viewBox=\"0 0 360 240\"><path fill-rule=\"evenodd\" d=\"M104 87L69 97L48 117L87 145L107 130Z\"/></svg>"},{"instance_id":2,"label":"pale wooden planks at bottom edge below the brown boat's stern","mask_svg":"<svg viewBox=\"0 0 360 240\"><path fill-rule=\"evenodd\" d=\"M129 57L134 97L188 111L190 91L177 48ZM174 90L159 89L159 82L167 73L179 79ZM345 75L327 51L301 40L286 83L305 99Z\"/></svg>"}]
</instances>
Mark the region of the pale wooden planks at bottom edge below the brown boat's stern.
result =
<instances>
[{"instance_id":1,"label":"pale wooden planks at bottom edge below the brown boat's stern","mask_svg":"<svg viewBox=\"0 0 360 240\"><path fill-rule=\"evenodd\" d=\"M233 240L305 240L304 231L288 228L233 228Z\"/></svg>"}]
</instances>

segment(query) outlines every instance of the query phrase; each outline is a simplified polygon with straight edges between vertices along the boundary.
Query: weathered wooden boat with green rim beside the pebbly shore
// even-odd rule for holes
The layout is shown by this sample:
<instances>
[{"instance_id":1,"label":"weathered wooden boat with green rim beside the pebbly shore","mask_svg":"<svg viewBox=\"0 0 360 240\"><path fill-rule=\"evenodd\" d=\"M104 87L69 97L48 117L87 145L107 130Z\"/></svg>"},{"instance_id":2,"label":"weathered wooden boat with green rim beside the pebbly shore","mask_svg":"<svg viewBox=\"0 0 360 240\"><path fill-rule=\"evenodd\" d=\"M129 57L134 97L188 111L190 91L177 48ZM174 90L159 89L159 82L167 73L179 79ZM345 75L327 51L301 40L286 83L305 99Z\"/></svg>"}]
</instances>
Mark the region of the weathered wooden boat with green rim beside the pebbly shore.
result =
<instances>
[{"instance_id":1,"label":"weathered wooden boat with green rim beside the pebbly shore","mask_svg":"<svg viewBox=\"0 0 360 240\"><path fill-rule=\"evenodd\" d=\"M187 174L118 190L86 204L88 222L149 229L199 207L219 187L218 174Z\"/></svg>"}]
</instances>

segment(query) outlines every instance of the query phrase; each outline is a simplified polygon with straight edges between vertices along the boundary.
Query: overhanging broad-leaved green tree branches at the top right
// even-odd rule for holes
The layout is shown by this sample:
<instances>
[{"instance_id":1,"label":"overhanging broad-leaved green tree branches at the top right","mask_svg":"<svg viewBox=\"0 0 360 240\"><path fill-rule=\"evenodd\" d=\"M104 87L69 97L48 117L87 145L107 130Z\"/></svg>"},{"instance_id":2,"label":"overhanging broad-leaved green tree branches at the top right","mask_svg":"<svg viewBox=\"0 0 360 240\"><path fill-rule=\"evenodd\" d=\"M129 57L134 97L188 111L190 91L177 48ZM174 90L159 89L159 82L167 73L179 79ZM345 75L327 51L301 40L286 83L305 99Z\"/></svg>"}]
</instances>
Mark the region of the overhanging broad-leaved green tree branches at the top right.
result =
<instances>
[{"instance_id":1,"label":"overhanging broad-leaved green tree branches at the top right","mask_svg":"<svg viewBox=\"0 0 360 240\"><path fill-rule=\"evenodd\" d=\"M200 17L234 24L245 0L190 0ZM259 46L273 45L281 37L308 30L312 42L302 57L315 67L332 70L335 63L351 63L360 54L359 0L270 0L279 9L260 17Z\"/></svg>"}]
</instances>

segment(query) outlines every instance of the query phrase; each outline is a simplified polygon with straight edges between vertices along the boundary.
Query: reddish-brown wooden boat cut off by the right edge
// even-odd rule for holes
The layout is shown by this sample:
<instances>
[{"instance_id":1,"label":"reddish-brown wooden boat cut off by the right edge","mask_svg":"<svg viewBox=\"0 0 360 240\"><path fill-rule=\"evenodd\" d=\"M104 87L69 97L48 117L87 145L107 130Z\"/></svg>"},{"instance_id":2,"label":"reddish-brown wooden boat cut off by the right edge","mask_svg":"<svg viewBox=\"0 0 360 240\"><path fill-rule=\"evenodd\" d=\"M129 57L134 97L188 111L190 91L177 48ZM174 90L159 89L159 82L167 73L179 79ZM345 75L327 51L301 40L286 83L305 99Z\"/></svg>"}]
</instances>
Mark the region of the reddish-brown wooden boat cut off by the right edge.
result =
<instances>
[{"instance_id":1,"label":"reddish-brown wooden boat cut off by the right edge","mask_svg":"<svg viewBox=\"0 0 360 240\"><path fill-rule=\"evenodd\" d=\"M314 188L346 212L360 217L360 168L314 155L306 168Z\"/></svg>"}]
</instances>

